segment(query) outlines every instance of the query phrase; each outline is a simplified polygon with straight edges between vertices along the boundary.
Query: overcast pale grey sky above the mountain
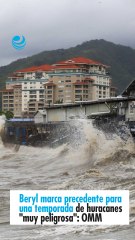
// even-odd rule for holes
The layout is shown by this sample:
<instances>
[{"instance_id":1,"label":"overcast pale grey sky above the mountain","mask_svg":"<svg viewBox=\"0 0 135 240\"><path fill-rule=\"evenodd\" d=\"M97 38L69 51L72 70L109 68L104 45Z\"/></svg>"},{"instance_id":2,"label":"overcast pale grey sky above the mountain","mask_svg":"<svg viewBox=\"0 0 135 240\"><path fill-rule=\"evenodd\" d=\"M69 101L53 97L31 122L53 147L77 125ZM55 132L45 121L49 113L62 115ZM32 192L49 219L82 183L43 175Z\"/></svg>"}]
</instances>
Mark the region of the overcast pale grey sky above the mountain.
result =
<instances>
[{"instance_id":1,"label":"overcast pale grey sky above the mountain","mask_svg":"<svg viewBox=\"0 0 135 240\"><path fill-rule=\"evenodd\" d=\"M15 35L25 49L12 47ZM135 0L0 0L0 66L92 39L135 48Z\"/></svg>"}]
</instances>

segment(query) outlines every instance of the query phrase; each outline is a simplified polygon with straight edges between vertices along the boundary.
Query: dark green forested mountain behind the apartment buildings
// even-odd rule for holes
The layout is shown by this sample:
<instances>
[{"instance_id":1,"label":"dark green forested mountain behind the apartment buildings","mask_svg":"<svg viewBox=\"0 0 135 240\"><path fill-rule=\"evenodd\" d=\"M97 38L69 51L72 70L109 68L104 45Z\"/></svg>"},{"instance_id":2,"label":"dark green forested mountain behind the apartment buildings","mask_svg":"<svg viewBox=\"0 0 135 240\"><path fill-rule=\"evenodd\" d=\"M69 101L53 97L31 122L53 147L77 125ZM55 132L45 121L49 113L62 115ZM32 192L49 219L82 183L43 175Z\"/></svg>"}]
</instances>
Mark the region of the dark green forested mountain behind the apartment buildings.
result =
<instances>
[{"instance_id":1,"label":"dark green forested mountain behind the apartment buildings","mask_svg":"<svg viewBox=\"0 0 135 240\"><path fill-rule=\"evenodd\" d=\"M135 50L105 40L91 40L76 47L44 51L28 58L20 59L0 67L1 86L7 76L19 69L34 65L53 64L72 57L87 57L109 65L113 85L121 92L135 79Z\"/></svg>"}]
</instances>

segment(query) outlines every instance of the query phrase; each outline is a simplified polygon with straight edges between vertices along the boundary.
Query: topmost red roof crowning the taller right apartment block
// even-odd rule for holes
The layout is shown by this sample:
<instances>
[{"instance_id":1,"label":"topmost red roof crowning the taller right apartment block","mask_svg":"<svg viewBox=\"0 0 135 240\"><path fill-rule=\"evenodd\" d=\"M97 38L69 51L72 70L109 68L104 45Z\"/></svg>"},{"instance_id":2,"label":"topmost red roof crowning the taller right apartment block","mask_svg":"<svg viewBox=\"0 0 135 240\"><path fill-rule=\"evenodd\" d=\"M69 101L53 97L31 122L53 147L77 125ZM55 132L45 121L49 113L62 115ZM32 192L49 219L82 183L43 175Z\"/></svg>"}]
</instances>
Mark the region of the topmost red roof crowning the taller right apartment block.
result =
<instances>
[{"instance_id":1,"label":"topmost red roof crowning the taller right apartment block","mask_svg":"<svg viewBox=\"0 0 135 240\"><path fill-rule=\"evenodd\" d=\"M71 58L69 60L61 61L56 63L56 65L61 65L61 64L90 64L90 65L103 65L100 62L97 62L95 60L89 59L89 58L84 58L84 57L76 57L76 58Z\"/></svg>"}]
</instances>

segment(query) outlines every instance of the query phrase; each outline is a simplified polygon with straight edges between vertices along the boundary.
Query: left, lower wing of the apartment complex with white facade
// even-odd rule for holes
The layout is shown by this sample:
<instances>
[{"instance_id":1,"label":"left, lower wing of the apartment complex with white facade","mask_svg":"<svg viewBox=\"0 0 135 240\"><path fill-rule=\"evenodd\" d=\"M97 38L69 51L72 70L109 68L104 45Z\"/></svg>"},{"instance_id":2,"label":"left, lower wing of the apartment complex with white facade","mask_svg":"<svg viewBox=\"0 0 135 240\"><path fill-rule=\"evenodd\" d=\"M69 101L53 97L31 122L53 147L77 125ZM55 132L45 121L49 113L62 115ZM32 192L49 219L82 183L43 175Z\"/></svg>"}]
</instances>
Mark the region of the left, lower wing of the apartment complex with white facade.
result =
<instances>
[{"instance_id":1,"label":"left, lower wing of the apartment complex with white facade","mask_svg":"<svg viewBox=\"0 0 135 240\"><path fill-rule=\"evenodd\" d=\"M13 101L13 108L9 108L8 105L4 110L12 110L15 117L22 117L25 115L32 116L38 109L43 109L44 83L49 79L48 72L50 72L50 69L52 69L51 66L43 65L22 69L11 75L6 81L6 90L2 91L2 96L4 99L5 95L9 95L12 92L16 100ZM21 88L20 99L15 97L15 91L18 89L17 86ZM19 102L20 113L15 101Z\"/></svg>"}]
</instances>

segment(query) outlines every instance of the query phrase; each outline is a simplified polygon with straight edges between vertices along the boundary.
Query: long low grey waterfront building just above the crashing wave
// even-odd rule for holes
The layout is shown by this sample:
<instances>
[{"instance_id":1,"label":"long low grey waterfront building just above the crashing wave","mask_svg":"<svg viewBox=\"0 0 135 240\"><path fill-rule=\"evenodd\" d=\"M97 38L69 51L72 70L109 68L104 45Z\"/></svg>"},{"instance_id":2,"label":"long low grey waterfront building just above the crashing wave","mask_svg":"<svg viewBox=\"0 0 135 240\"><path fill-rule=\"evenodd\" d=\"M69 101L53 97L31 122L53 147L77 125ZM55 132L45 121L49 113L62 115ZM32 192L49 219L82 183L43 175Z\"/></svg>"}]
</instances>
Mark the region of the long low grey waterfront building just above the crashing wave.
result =
<instances>
[{"instance_id":1,"label":"long low grey waterfront building just above the crashing wave","mask_svg":"<svg viewBox=\"0 0 135 240\"><path fill-rule=\"evenodd\" d=\"M134 97L115 97L96 101L67 103L46 106L34 116L35 123L67 122L74 119L95 119L97 117L115 118L117 121L134 121L135 111L130 112L131 103L135 103ZM133 105L135 106L135 105ZM133 107L135 109L135 107ZM44 118L43 118L44 115ZM39 120L40 121L39 121ZM43 120L44 119L44 120Z\"/></svg>"}]
</instances>

